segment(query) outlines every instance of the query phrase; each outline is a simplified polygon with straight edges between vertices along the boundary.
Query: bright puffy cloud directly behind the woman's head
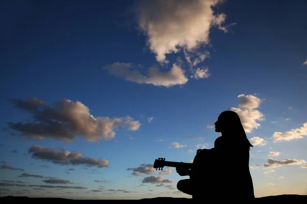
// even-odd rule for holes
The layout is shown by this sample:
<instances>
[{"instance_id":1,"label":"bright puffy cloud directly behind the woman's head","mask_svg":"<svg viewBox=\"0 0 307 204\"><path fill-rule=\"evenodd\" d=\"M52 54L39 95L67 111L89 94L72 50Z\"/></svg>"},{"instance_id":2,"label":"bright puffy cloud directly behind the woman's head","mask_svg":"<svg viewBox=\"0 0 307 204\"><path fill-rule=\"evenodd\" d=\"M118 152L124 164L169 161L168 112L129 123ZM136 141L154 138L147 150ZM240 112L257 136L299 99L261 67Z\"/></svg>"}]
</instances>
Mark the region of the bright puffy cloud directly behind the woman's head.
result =
<instances>
[{"instance_id":1,"label":"bright puffy cloud directly behind the woman's head","mask_svg":"<svg viewBox=\"0 0 307 204\"><path fill-rule=\"evenodd\" d=\"M229 110L239 115L245 132L250 133L254 129L258 129L260 126L258 121L265 120L264 114L256 110L264 99L245 94L240 94L237 97L240 99L239 106L237 108L232 107Z\"/></svg>"}]
</instances>

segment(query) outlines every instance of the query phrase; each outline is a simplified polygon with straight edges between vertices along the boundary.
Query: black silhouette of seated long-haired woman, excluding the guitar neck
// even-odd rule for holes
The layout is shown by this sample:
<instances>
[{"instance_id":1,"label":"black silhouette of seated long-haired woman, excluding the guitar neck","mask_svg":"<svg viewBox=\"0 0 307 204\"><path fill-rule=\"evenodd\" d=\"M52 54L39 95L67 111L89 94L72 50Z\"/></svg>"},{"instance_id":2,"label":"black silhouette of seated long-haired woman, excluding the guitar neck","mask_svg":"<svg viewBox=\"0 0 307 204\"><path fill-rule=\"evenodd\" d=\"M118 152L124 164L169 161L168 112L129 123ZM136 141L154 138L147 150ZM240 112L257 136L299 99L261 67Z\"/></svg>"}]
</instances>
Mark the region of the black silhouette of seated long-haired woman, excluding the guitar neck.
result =
<instances>
[{"instance_id":1,"label":"black silhouette of seated long-haired woman, excluding the guitar neck","mask_svg":"<svg viewBox=\"0 0 307 204\"><path fill-rule=\"evenodd\" d=\"M192 195L193 200L250 201L254 199L253 181L249 170L250 147L239 116L224 111L218 116L215 132L222 133L214 148L198 149L192 169L177 168L181 180L178 190Z\"/></svg>"}]
</instances>

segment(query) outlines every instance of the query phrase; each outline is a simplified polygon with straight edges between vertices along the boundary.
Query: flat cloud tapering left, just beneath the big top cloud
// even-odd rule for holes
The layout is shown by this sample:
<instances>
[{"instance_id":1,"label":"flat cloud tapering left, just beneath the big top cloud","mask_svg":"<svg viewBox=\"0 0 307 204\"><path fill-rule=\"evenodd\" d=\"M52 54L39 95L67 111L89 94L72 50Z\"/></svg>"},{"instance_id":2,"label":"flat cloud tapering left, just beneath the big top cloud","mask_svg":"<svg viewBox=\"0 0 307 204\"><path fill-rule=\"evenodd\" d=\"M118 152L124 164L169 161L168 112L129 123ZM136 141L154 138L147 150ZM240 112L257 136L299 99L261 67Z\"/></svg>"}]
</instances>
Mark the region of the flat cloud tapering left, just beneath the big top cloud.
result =
<instances>
[{"instance_id":1,"label":"flat cloud tapering left, just beneath the big top cloud","mask_svg":"<svg viewBox=\"0 0 307 204\"><path fill-rule=\"evenodd\" d=\"M169 71L164 72L159 71L157 67L150 67L147 75L141 74L136 69L136 66L131 63L115 62L106 65L105 69L110 74L138 84L171 87L174 85L183 85L188 82L188 79L184 75L185 71L178 64L173 64Z\"/></svg>"}]
</instances>

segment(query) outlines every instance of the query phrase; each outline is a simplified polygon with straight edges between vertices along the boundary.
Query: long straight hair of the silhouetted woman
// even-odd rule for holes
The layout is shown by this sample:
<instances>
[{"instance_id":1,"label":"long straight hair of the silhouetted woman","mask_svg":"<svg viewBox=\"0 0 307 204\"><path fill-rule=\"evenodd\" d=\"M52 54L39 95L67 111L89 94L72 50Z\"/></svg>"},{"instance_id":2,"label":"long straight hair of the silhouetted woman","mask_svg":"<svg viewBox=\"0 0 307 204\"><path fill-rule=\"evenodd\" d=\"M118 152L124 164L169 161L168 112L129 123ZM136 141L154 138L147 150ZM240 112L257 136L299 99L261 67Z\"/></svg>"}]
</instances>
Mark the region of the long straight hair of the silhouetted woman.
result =
<instances>
[{"instance_id":1,"label":"long straight hair of the silhouetted woman","mask_svg":"<svg viewBox=\"0 0 307 204\"><path fill-rule=\"evenodd\" d=\"M230 141L236 147L248 148L250 150L253 145L248 140L244 127L241 123L240 117L234 111L224 111L218 117L222 126L222 136Z\"/></svg>"}]
</instances>

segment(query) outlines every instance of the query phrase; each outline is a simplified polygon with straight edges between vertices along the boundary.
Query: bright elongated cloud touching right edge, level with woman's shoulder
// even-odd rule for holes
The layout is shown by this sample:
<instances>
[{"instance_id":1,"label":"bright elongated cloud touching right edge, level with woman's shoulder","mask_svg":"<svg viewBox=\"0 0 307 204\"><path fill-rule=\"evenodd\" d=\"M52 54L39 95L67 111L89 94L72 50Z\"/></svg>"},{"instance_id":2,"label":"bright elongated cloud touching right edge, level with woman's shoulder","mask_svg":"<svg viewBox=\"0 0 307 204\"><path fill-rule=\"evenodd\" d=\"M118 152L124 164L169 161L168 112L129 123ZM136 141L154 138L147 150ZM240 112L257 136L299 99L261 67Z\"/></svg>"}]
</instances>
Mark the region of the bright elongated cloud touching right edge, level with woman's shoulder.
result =
<instances>
[{"instance_id":1,"label":"bright elongated cloud touching right edge, level with woman's shoulder","mask_svg":"<svg viewBox=\"0 0 307 204\"><path fill-rule=\"evenodd\" d=\"M277 142L277 141L290 141L294 139L301 139L303 138L303 136L307 136L307 122L305 122L302 127L297 129L291 129L286 133L275 132L272 138L274 142Z\"/></svg>"}]
</instances>

